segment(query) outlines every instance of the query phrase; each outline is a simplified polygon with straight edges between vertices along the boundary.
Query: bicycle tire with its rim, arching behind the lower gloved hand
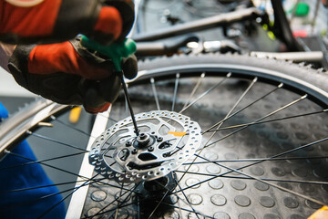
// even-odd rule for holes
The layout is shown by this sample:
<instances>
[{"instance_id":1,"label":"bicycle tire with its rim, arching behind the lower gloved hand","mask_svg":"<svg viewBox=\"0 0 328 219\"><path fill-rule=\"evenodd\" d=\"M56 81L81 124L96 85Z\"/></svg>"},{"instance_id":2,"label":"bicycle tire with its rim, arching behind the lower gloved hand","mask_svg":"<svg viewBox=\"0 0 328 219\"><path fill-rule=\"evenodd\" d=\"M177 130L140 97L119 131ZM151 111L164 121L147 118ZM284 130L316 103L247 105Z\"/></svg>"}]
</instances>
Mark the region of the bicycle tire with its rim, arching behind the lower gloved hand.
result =
<instances>
[{"instance_id":1,"label":"bicycle tire with its rim, arching behind the lower gloved hand","mask_svg":"<svg viewBox=\"0 0 328 219\"><path fill-rule=\"evenodd\" d=\"M199 76L200 72L203 71L206 71L210 77L217 76L217 75L224 76L227 72L232 72L232 75L236 76L236 78L241 78L241 79L250 78L250 77L259 78L260 82L261 81L269 82L269 84L274 84L274 85L276 85L276 83L278 82L283 83L284 84L283 88L288 90L290 89L292 90L292 92L301 95L306 93L309 99L311 99L315 103L318 103L323 109L327 109L328 106L328 88L327 88L328 77L326 72L323 69L314 70L310 66L305 66L303 64L295 65L292 64L291 62L285 62L281 60L274 60L268 58L260 59L257 57L250 57L245 55L239 56L239 55L206 54L206 55L198 55L198 56L160 57L154 60L146 60L139 63L139 70L140 71L139 71L138 78L129 82L132 89L134 85L138 86L138 84L145 83L149 81L150 78L158 78L158 79L175 78L177 72L179 72L181 78L190 77L190 76ZM148 94L142 96L141 92L138 92L137 96L138 95L141 95L138 97L138 99L148 98L147 97ZM136 95L132 95L132 96L134 97ZM163 101L165 101L166 98L167 96L165 96L165 94L161 94L161 96L159 97L159 99L162 99ZM26 114L26 109L28 109L28 111L33 112L32 114L37 113L38 114L37 120L36 117L34 118L33 116L31 116L31 114L23 118L22 115ZM53 109L53 110L49 110L49 109ZM3 140L6 137L7 139L10 140L10 142L7 142L6 145L11 145L15 141L19 140L20 137L24 137L26 130L31 130L34 127L36 127L36 124L38 122L47 120L52 115L52 113L58 113L60 110L65 110L65 109L67 109L67 107L61 107L61 105L57 105L56 103L52 103L44 99L38 99L32 105L22 109L20 112L17 112L12 118L5 120L5 122L0 126L0 130L1 130L0 133L2 134L0 136L0 139ZM43 116L40 117L39 116L40 114L42 114ZM15 120L18 120L18 123L25 124L25 125L18 126L18 127L13 126L13 124L18 124L17 122L13 122ZM34 121L33 124L30 123L31 120ZM26 125L30 127L26 129ZM323 126L324 125L325 124L323 124ZM15 127L15 129L13 129L13 127ZM327 129L328 126L326 125L324 130L326 131ZM322 178L326 179L325 176ZM257 192L260 193L259 191ZM323 193L324 191L321 192ZM279 200L274 200L274 201L276 204L278 204L279 202ZM322 201L326 202L326 200L322 200ZM286 205L285 203L283 204ZM261 205L263 204L261 203ZM217 204L216 206L218 207L219 205ZM282 210L283 207L286 208L286 206L282 206ZM238 205L238 208L242 209L241 205ZM267 216L268 218L272 215L278 216L276 218L279 218L279 215L283 217L287 215L285 212L286 210L283 210L283 213L278 213L278 214L273 214L272 211L270 211L269 207L267 208L267 210L269 213L265 214L264 216ZM294 210L294 208L292 210ZM311 211L314 210L313 209L303 210L303 215L309 214ZM226 214L228 213L225 214L222 213L221 215L226 215ZM232 214L238 215L239 217L250 216L250 214L246 214L246 213L243 214L241 210L233 211L233 213L231 213L231 216ZM195 215L199 217L198 214ZM292 215L298 215L298 214L291 214L291 216ZM215 217L214 215L211 216L213 218ZM254 216L258 216L260 218L259 215L254 214Z\"/></svg>"}]
</instances>

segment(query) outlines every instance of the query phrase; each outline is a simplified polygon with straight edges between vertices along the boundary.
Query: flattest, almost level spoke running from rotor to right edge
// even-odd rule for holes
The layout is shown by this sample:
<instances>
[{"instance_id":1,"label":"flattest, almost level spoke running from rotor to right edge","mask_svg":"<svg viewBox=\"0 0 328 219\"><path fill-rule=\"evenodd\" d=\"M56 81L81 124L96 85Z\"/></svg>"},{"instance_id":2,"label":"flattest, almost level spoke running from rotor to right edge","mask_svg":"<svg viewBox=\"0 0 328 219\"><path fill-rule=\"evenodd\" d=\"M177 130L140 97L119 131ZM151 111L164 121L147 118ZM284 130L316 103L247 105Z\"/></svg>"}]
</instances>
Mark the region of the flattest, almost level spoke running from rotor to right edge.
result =
<instances>
[{"instance_id":1,"label":"flattest, almost level spoke running from rotor to right edge","mask_svg":"<svg viewBox=\"0 0 328 219\"><path fill-rule=\"evenodd\" d=\"M286 158L272 158L268 162L274 161L286 161L286 160L305 160L305 159L326 159L328 156L315 156L315 157L286 157ZM210 161L210 162L185 162L182 165L190 165L192 164L204 164L211 162L258 162L263 161L266 158L250 158L250 159L238 159L238 160L218 160L218 161Z\"/></svg>"}]
</instances>

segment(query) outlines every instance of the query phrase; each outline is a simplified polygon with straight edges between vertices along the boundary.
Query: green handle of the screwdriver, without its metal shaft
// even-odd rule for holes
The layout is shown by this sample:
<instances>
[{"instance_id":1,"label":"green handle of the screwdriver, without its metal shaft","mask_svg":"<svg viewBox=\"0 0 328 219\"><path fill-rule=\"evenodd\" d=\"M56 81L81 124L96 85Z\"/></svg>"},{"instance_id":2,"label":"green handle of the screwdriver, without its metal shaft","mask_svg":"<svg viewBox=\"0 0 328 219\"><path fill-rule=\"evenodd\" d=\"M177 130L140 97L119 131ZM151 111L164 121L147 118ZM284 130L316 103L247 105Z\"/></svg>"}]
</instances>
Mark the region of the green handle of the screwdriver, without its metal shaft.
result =
<instances>
[{"instance_id":1,"label":"green handle of the screwdriver, without its metal shaft","mask_svg":"<svg viewBox=\"0 0 328 219\"><path fill-rule=\"evenodd\" d=\"M125 38L122 42L115 42L109 46L104 46L96 41L87 38L87 36L81 37L81 45L89 49L95 50L102 55L111 59L114 67L117 71L121 71L121 61L123 57L129 57L133 55L137 50L137 45L135 41L130 38Z\"/></svg>"}]
</instances>

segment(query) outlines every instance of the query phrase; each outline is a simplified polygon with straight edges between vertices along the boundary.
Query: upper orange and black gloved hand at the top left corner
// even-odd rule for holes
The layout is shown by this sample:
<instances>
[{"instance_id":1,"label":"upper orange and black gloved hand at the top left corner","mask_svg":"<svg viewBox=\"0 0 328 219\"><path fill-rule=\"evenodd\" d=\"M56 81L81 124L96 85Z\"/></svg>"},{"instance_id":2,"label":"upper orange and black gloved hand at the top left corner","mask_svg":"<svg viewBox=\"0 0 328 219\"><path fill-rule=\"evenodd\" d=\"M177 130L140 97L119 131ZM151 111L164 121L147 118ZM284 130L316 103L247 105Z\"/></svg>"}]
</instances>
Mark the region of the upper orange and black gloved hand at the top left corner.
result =
<instances>
[{"instance_id":1,"label":"upper orange and black gloved hand at the top left corner","mask_svg":"<svg viewBox=\"0 0 328 219\"><path fill-rule=\"evenodd\" d=\"M54 43L84 34L102 44L127 36L132 0L2 0L0 41Z\"/></svg>"}]
</instances>

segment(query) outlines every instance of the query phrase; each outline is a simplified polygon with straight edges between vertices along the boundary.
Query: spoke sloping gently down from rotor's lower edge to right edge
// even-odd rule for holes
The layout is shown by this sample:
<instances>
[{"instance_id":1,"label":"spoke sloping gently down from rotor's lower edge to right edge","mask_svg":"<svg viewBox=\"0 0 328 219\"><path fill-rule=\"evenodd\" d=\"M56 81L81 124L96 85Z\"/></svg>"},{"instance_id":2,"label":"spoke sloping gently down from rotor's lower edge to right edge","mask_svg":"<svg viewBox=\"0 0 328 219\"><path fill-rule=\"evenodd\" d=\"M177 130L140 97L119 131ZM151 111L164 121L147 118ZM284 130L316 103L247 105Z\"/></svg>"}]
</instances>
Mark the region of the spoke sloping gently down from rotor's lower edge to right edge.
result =
<instances>
[{"instance_id":1,"label":"spoke sloping gently down from rotor's lower edge to right edge","mask_svg":"<svg viewBox=\"0 0 328 219\"><path fill-rule=\"evenodd\" d=\"M216 164L216 163L214 163L214 164ZM183 173L183 171L175 171L175 172ZM186 173L193 174L193 175L202 175L202 176L217 176L217 174L210 174L210 173L204 173L204 172L186 172ZM220 176L220 177L244 179L244 180L254 180L253 178L250 178L250 177L241 177L241 176L223 175L223 176ZM323 181L299 181L299 180L283 180L283 179L270 179L270 178L260 178L260 179L263 180L263 181L272 181L272 182L327 184L328 185L328 182L323 182Z\"/></svg>"}]
</instances>

